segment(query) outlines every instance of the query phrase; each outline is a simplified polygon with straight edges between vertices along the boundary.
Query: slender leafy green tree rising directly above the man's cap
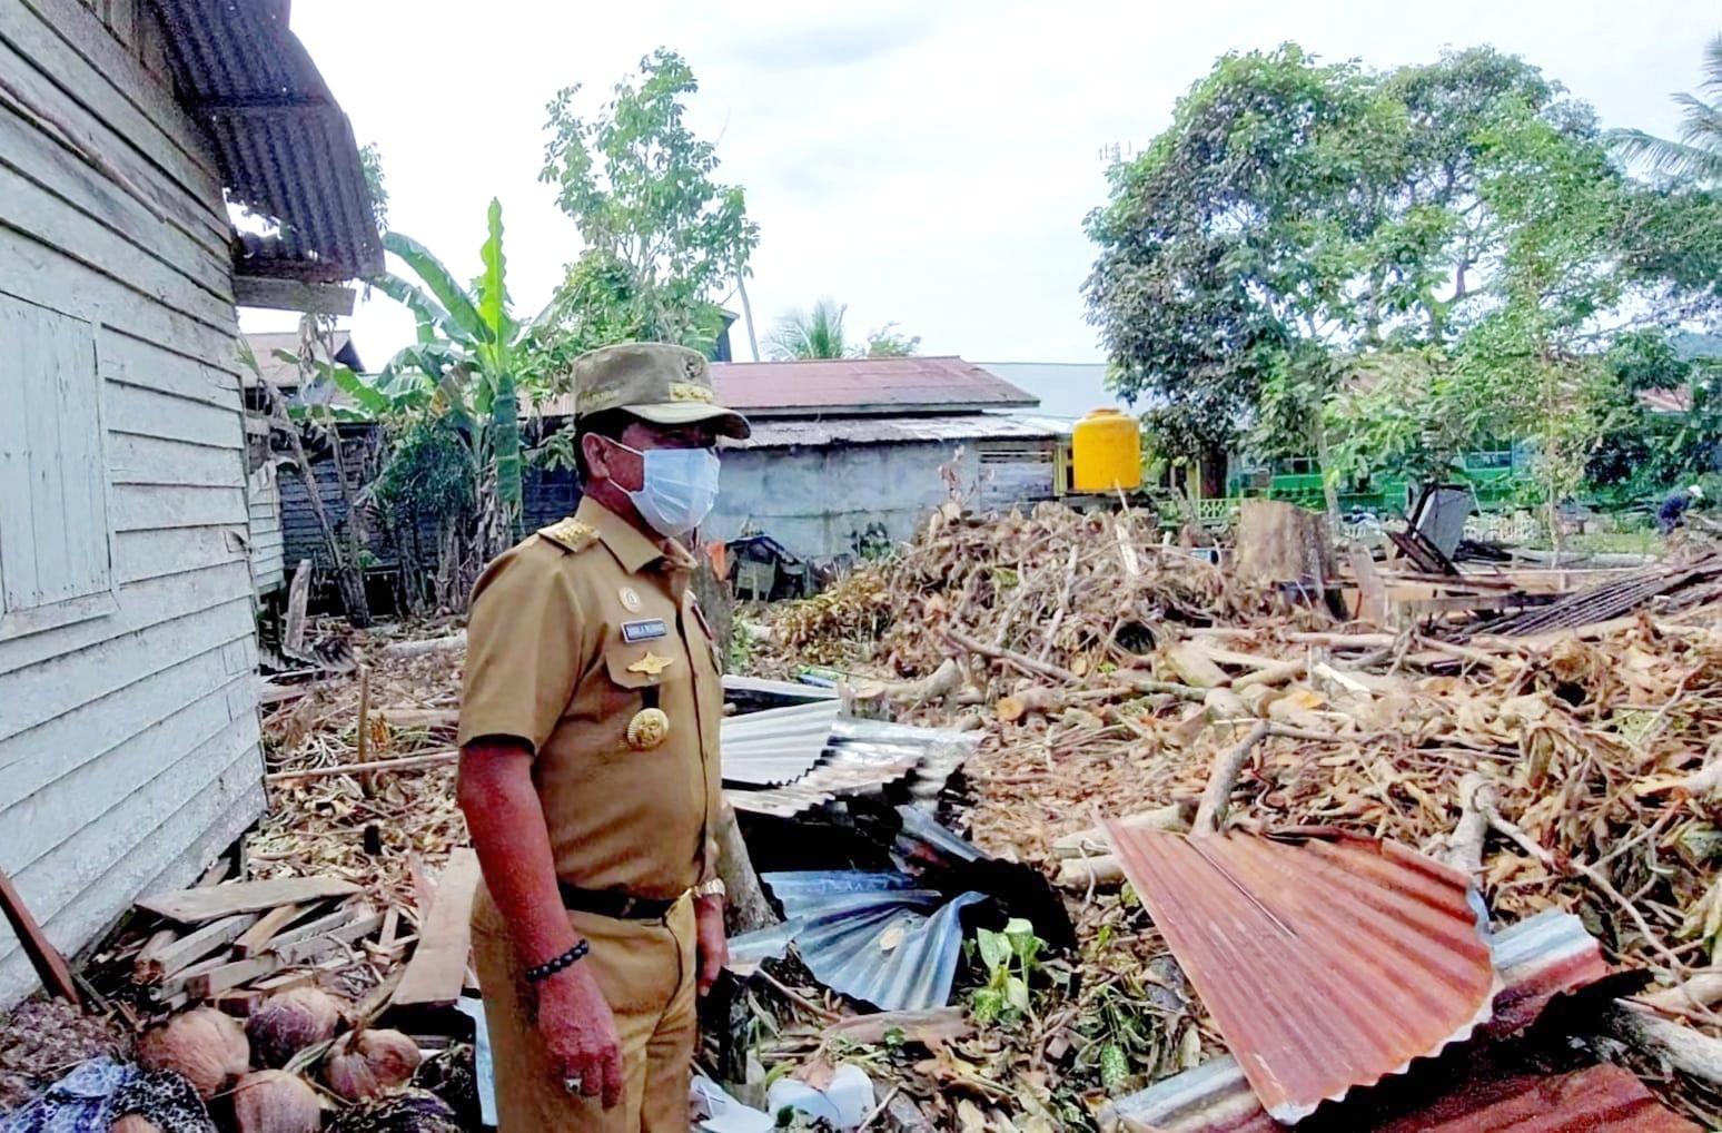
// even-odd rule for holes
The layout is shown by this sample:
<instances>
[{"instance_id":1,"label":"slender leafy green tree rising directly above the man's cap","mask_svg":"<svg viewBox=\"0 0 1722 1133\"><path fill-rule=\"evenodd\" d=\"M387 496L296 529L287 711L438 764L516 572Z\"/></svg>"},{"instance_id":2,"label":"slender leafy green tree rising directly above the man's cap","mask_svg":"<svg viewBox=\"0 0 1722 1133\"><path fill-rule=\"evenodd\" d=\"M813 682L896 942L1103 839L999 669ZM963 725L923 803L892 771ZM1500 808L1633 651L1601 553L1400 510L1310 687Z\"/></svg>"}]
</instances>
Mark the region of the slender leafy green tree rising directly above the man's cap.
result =
<instances>
[{"instance_id":1,"label":"slender leafy green tree rising directly above the man's cap","mask_svg":"<svg viewBox=\"0 0 1722 1133\"><path fill-rule=\"evenodd\" d=\"M625 339L709 350L713 296L747 276L759 226L740 186L715 181L716 148L694 136L685 100L699 90L680 55L656 50L598 114L580 88L549 105L542 181L585 241L556 303L561 355Z\"/></svg>"}]
</instances>

